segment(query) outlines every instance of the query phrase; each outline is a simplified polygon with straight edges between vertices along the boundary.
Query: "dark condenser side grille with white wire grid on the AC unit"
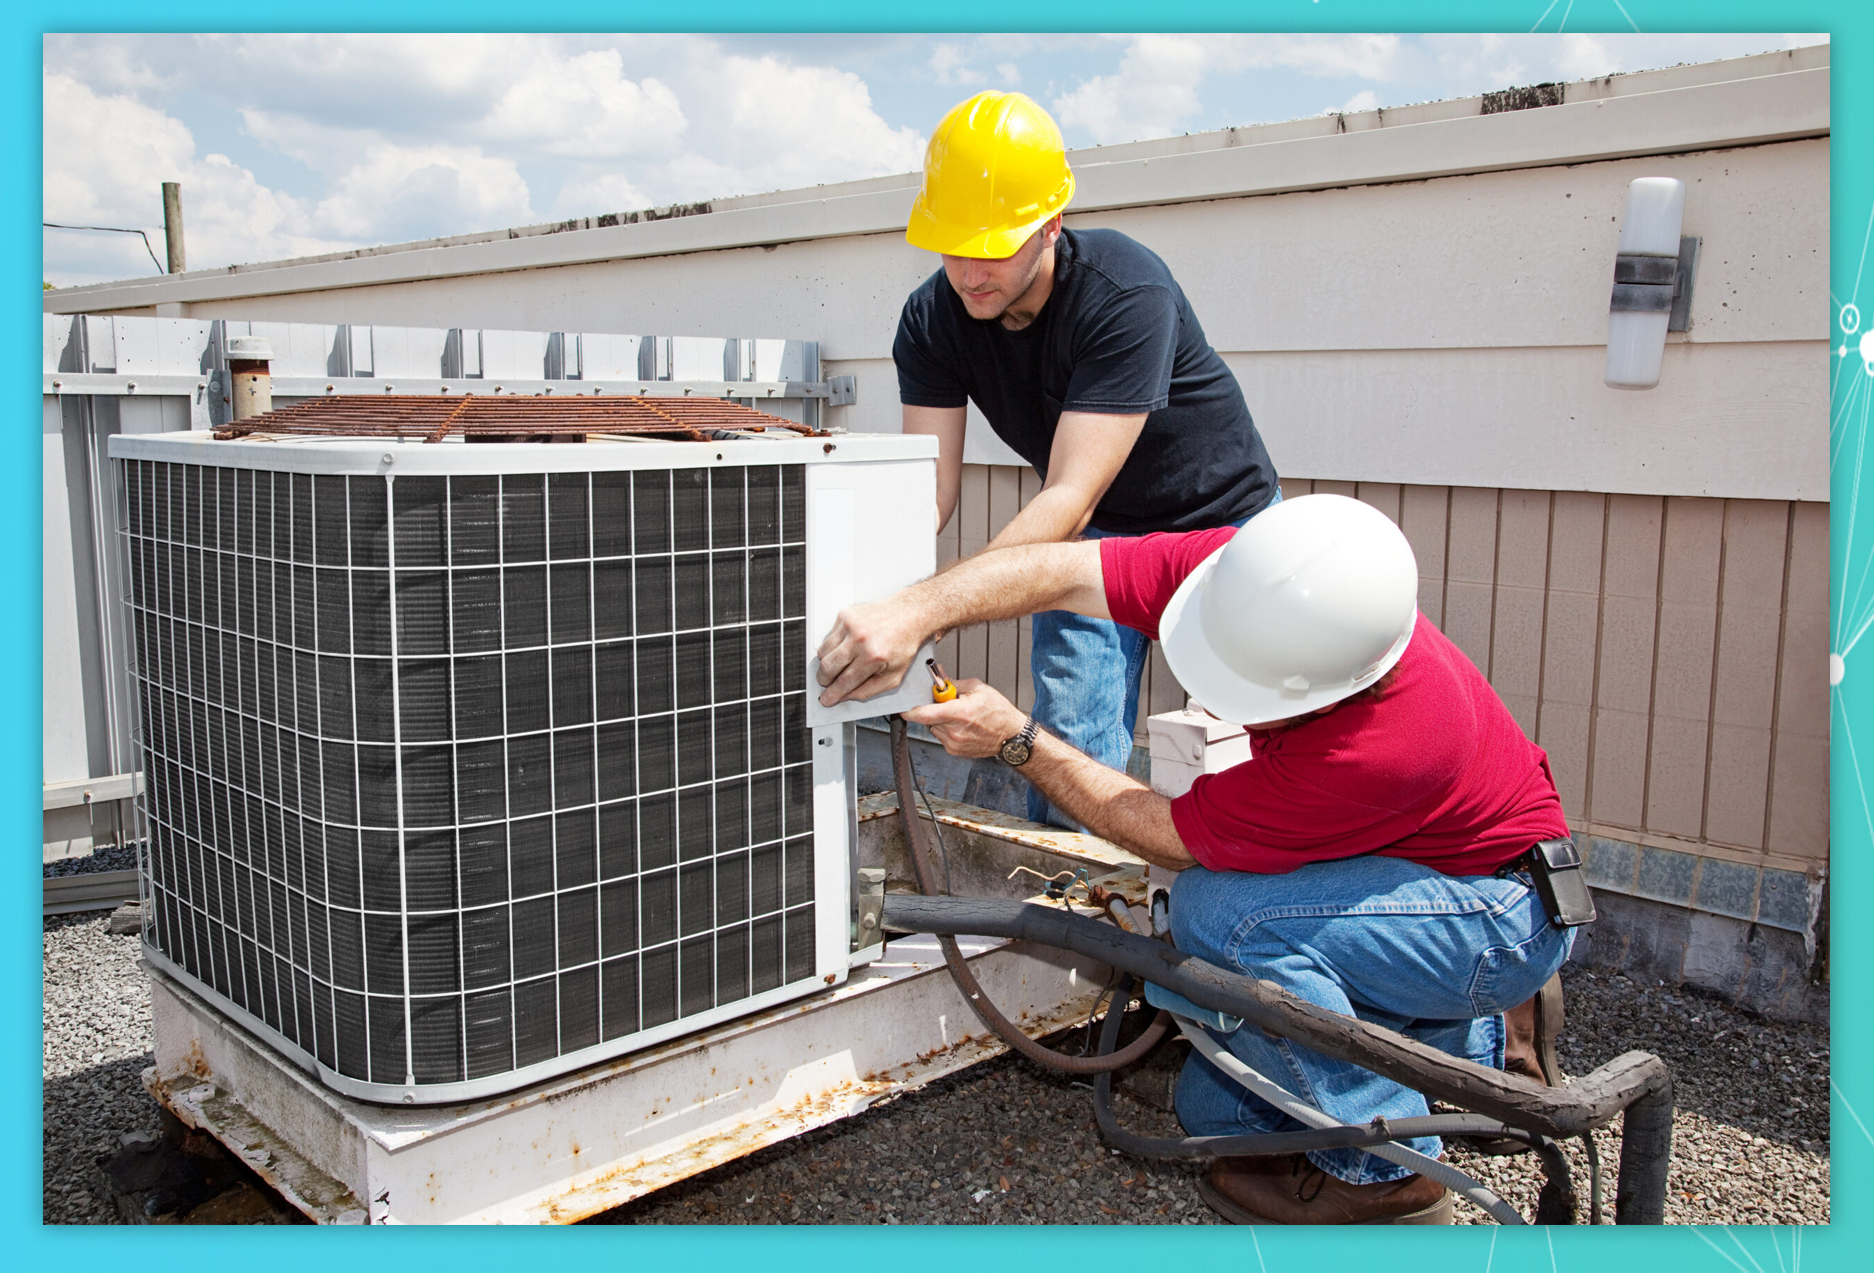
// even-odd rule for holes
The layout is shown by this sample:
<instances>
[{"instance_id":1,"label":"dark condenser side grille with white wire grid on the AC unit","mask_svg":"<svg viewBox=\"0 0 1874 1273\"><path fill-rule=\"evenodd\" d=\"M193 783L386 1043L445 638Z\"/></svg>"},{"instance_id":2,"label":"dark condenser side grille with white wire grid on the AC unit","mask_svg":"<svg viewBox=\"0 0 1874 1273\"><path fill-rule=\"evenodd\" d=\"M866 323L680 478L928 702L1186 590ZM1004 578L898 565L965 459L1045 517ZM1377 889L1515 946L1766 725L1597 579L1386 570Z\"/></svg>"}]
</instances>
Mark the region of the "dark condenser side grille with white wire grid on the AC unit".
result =
<instances>
[{"instance_id":1,"label":"dark condenser side grille with white wire grid on the AC unit","mask_svg":"<svg viewBox=\"0 0 1874 1273\"><path fill-rule=\"evenodd\" d=\"M798 465L118 463L169 960L399 1086L813 975Z\"/></svg>"}]
</instances>

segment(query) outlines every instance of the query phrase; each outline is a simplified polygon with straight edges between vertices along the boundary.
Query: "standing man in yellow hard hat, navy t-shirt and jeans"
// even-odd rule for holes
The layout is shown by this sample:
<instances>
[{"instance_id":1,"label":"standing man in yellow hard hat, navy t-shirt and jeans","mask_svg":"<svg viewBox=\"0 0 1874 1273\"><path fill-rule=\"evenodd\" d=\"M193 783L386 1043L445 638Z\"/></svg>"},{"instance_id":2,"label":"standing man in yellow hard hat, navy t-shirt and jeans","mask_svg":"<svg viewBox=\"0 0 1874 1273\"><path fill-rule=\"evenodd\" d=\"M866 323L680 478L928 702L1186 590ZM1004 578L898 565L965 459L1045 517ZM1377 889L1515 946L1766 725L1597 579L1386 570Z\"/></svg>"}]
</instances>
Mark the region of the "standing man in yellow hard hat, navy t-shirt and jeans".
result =
<instances>
[{"instance_id":1,"label":"standing man in yellow hard hat, navy t-shirt and jeans","mask_svg":"<svg viewBox=\"0 0 1874 1273\"><path fill-rule=\"evenodd\" d=\"M892 360L905 433L937 437L937 529L956 514L974 401L1040 493L989 547L1242 525L1282 497L1237 379L1177 279L1119 231L1068 231L1074 172L1021 94L952 109L924 154L905 240L943 268L905 300ZM1034 716L1124 771L1147 637L1034 615ZM1072 827L1029 791L1029 817Z\"/></svg>"}]
</instances>

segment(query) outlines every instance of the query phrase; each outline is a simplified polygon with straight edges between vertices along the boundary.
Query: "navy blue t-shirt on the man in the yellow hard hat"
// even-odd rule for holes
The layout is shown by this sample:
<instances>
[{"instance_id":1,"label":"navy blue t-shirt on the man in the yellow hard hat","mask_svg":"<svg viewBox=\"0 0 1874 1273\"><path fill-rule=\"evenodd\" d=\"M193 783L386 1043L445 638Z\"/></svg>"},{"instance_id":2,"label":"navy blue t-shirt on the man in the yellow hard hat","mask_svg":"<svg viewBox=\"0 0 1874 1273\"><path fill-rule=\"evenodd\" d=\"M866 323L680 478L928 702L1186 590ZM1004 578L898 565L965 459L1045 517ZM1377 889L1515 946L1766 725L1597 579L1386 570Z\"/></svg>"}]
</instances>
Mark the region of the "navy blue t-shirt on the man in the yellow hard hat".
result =
<instances>
[{"instance_id":1,"label":"navy blue t-shirt on the man in the yellow hard hat","mask_svg":"<svg viewBox=\"0 0 1874 1273\"><path fill-rule=\"evenodd\" d=\"M1061 231L1053 291L1019 332L971 319L937 270L905 300L892 360L905 405L974 401L1042 478L1063 411L1149 412L1093 510L1098 531L1229 525L1274 493L1276 471L1237 377L1166 262L1119 231Z\"/></svg>"}]
</instances>

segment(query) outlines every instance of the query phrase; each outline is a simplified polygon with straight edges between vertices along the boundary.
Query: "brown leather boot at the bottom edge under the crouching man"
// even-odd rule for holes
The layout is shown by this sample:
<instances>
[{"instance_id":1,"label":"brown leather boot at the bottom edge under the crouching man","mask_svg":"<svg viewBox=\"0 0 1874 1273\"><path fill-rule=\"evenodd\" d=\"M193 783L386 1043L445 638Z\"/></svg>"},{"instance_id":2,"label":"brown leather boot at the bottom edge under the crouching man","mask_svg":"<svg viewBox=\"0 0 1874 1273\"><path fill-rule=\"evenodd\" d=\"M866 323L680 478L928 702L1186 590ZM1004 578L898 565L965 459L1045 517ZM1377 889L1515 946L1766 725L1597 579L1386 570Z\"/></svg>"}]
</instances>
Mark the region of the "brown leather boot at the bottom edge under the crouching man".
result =
<instances>
[{"instance_id":1,"label":"brown leather boot at the bottom edge under the crouching man","mask_svg":"<svg viewBox=\"0 0 1874 1273\"><path fill-rule=\"evenodd\" d=\"M1197 1196L1231 1224L1450 1224L1450 1192L1434 1179L1349 1185L1304 1153L1218 1159Z\"/></svg>"}]
</instances>

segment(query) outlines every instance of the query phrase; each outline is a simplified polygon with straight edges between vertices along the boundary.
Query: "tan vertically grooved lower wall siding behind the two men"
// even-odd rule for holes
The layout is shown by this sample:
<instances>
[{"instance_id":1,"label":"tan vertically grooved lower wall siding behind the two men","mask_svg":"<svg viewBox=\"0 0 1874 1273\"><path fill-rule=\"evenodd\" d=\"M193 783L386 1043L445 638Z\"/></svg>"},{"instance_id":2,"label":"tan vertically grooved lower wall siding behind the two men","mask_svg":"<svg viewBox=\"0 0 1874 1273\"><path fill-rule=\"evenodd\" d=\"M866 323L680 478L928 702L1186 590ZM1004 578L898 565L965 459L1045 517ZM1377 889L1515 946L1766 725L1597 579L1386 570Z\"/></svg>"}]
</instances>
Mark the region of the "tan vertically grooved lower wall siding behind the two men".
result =
<instances>
[{"instance_id":1,"label":"tan vertically grooved lower wall siding behind the two men","mask_svg":"<svg viewBox=\"0 0 1874 1273\"><path fill-rule=\"evenodd\" d=\"M939 557L974 551L1033 472L967 465ZM1827 861L1825 504L1284 478L1396 519L1420 609L1548 750L1576 827L1778 866ZM1033 701L1019 624L952 634L959 675ZM1145 716L1184 692L1154 645Z\"/></svg>"}]
</instances>

